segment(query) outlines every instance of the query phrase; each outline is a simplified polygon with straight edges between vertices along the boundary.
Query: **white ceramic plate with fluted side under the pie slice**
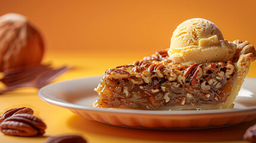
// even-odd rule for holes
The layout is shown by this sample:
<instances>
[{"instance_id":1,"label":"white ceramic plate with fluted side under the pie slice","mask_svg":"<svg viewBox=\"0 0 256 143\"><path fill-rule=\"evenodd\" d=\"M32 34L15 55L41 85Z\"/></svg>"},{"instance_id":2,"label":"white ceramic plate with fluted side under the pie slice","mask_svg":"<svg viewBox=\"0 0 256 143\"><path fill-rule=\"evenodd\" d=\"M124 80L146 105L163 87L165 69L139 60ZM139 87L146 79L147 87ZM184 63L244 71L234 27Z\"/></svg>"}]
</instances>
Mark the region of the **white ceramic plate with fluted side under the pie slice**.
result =
<instances>
[{"instance_id":1,"label":"white ceramic plate with fluted side under the pie slice","mask_svg":"<svg viewBox=\"0 0 256 143\"><path fill-rule=\"evenodd\" d=\"M230 110L149 111L93 108L97 99L94 88L101 76L53 83L38 92L42 100L68 108L90 120L129 128L202 129L248 122L256 118L256 79L246 78Z\"/></svg>"}]
</instances>

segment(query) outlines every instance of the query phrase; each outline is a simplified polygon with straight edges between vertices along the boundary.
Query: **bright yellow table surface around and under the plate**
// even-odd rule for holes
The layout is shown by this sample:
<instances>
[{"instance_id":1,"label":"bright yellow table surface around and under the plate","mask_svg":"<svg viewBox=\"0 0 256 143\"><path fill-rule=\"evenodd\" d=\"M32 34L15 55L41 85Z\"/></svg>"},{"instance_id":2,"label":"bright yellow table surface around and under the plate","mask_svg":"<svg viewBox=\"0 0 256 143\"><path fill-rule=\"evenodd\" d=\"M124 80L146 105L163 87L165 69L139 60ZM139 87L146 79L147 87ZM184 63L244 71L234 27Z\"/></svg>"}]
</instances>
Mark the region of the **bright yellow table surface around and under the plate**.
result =
<instances>
[{"instance_id":1,"label":"bright yellow table surface around and under the plate","mask_svg":"<svg viewBox=\"0 0 256 143\"><path fill-rule=\"evenodd\" d=\"M95 76L102 74L106 69L114 66L132 63L143 57L129 57L128 55L86 55L55 53L48 54L44 63L51 62L54 67L75 66L54 80L74 79L78 77ZM256 77L256 63L253 63L248 73ZM84 119L73 114L66 108L48 104L39 99L38 89L23 88L0 95L0 113L15 107L30 107L35 111L35 116L40 117L47 124L46 133L42 137L7 136L0 133L0 142L45 142L50 136L64 134L78 134L84 136L88 142L113 143L113 142L245 142L242 139L245 130L256 123L256 120L220 129L206 130L138 130L118 128L104 125L95 121Z\"/></svg>"}]
</instances>

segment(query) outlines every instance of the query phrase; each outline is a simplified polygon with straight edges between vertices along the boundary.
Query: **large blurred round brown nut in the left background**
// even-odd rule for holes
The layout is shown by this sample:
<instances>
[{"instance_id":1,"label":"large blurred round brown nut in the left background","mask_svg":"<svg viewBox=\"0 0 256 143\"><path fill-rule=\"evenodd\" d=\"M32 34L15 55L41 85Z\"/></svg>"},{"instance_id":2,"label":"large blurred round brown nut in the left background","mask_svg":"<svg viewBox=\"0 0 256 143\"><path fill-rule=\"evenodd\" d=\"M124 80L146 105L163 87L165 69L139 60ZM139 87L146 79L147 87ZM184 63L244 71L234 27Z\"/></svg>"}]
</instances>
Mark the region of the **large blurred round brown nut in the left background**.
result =
<instances>
[{"instance_id":1,"label":"large blurred round brown nut in the left background","mask_svg":"<svg viewBox=\"0 0 256 143\"><path fill-rule=\"evenodd\" d=\"M0 71L40 64L43 54L42 36L26 17L14 13L0 17Z\"/></svg>"}]
</instances>

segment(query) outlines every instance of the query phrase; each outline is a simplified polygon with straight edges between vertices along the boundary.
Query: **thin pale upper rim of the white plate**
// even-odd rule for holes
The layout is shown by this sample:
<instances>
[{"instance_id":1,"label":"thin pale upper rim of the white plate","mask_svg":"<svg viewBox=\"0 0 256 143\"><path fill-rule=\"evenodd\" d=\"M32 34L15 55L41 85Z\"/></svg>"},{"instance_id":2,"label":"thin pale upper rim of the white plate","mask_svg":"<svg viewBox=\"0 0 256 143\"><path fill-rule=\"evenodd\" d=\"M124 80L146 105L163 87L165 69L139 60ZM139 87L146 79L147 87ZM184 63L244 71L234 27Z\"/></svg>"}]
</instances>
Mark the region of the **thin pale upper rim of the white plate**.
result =
<instances>
[{"instance_id":1,"label":"thin pale upper rim of the white plate","mask_svg":"<svg viewBox=\"0 0 256 143\"><path fill-rule=\"evenodd\" d=\"M57 105L64 108L69 108L73 110L86 110L86 111L97 111L97 112L104 112L104 113L119 113L119 114L140 114L146 115L146 116L201 116L202 114L233 114L233 113L247 113L251 111L256 112L256 105L251 107L246 107L242 109L224 109L224 110L135 110L135 109L123 109L123 108L94 108L94 107L88 107L86 105L78 105L74 104L72 102L61 102L61 101L55 101L53 99L50 99L48 97L45 97L42 93L47 88L58 85L58 84L65 84L68 82L75 82L76 80L87 80L87 79L100 79L102 76L88 76L88 77L78 77L75 79L69 79L69 80L63 80L60 82L51 83L50 85L46 85L39 89L38 91L38 97L41 98L41 100L48 102L49 104ZM246 77L246 79L250 80L256 80L254 77ZM64 100L63 100L64 101Z\"/></svg>"}]
</instances>

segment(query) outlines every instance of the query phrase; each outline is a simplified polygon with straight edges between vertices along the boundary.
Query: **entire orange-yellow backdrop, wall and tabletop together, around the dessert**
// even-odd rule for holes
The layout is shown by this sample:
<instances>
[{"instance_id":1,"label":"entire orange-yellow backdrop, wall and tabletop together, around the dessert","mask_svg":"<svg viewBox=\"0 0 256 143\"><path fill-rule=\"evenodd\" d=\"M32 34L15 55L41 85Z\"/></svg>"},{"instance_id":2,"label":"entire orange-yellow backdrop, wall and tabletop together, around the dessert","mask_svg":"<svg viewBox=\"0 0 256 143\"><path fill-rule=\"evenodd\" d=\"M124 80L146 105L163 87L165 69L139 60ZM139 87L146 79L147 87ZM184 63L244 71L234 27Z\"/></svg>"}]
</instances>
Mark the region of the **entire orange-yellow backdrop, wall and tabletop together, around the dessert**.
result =
<instances>
[{"instance_id":1,"label":"entire orange-yellow backdrop, wall and tabletop together, around the dessert","mask_svg":"<svg viewBox=\"0 0 256 143\"><path fill-rule=\"evenodd\" d=\"M166 49L174 29L189 18L214 22L225 39L256 45L256 1L71 1L0 0L0 15L26 15L44 35L44 62L55 67L75 66L54 82L102 74ZM248 76L256 77L256 61ZM0 86L0 89L2 86ZM245 142L243 133L256 120L210 130L135 130L103 125L79 117L66 108L40 100L38 89L22 88L0 95L0 114L14 107L30 107L47 123L41 138L0 133L0 142L45 142L47 137L78 134L90 143L114 142ZM185 138L184 138L185 136Z\"/></svg>"}]
</instances>

